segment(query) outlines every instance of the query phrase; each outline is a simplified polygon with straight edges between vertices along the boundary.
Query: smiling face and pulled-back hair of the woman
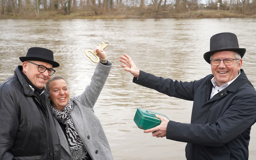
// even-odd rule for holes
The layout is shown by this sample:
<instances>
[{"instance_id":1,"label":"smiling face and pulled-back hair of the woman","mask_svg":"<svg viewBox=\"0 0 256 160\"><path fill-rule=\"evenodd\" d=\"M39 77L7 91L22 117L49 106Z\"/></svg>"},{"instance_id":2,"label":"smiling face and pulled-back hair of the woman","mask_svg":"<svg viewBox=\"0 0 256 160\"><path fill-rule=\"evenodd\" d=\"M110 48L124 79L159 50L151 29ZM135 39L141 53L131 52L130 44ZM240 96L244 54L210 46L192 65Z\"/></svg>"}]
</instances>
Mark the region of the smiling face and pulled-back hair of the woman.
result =
<instances>
[{"instance_id":1,"label":"smiling face and pulled-back hair of the woman","mask_svg":"<svg viewBox=\"0 0 256 160\"><path fill-rule=\"evenodd\" d=\"M49 84L50 100L54 108L62 111L69 102L69 90L63 79L58 79Z\"/></svg>"}]
</instances>

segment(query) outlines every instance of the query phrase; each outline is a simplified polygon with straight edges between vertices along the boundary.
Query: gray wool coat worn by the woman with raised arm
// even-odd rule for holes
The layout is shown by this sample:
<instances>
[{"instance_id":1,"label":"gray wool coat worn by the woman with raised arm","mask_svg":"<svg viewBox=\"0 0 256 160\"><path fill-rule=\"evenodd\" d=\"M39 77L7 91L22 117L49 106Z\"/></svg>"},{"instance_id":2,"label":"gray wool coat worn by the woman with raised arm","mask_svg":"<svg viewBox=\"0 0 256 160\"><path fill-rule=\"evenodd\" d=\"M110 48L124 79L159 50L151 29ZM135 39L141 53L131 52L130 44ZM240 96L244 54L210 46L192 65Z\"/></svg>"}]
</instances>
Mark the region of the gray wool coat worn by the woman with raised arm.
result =
<instances>
[{"instance_id":1,"label":"gray wool coat worn by the woman with raised arm","mask_svg":"<svg viewBox=\"0 0 256 160\"><path fill-rule=\"evenodd\" d=\"M72 121L93 160L113 160L107 137L93 109L108 78L111 67L112 63L109 61L108 65L98 63L91 77L91 82L86 86L85 91L81 95L72 98L74 103L71 111ZM61 142L61 159L70 160L69 144L58 120L56 118L54 120Z\"/></svg>"}]
</instances>

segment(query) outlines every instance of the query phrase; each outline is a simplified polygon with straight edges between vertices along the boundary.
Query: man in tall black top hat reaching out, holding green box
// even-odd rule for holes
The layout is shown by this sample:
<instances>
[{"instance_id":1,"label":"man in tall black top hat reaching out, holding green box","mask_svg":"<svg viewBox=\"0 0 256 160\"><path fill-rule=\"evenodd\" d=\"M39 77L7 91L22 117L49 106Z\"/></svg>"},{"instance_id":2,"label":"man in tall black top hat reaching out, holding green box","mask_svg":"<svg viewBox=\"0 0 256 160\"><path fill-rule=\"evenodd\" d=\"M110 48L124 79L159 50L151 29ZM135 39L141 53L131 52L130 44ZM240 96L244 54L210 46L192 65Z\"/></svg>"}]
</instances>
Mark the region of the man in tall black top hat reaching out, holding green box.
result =
<instances>
[{"instance_id":1,"label":"man in tall black top hat reaching out, holding green box","mask_svg":"<svg viewBox=\"0 0 256 160\"><path fill-rule=\"evenodd\" d=\"M256 91L241 69L246 49L233 33L210 39L204 54L212 74L181 82L140 71L128 56L120 56L133 82L169 96L193 101L191 123L178 123L156 115L161 124L144 133L186 142L187 160L248 160L250 129L256 121Z\"/></svg>"}]
</instances>

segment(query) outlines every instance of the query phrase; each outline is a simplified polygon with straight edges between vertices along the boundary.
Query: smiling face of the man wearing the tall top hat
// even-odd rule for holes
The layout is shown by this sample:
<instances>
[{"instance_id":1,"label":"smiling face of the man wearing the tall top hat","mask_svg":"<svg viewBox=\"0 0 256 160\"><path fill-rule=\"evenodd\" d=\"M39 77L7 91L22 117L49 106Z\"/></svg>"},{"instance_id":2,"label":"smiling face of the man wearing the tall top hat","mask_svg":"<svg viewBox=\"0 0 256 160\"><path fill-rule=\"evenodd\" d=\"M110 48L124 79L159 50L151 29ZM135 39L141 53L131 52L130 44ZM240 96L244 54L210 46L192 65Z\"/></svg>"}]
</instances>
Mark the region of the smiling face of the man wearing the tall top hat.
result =
<instances>
[{"instance_id":1,"label":"smiling face of the man wearing the tall top hat","mask_svg":"<svg viewBox=\"0 0 256 160\"><path fill-rule=\"evenodd\" d=\"M220 59L221 62L218 66L211 65L211 72L216 79L216 84L220 87L236 78L238 71L241 69L242 60L239 60L237 65L237 60L234 60L232 65L225 65L223 59L233 58L236 59L235 52L233 51L222 51L214 53L211 59Z\"/></svg>"}]
</instances>

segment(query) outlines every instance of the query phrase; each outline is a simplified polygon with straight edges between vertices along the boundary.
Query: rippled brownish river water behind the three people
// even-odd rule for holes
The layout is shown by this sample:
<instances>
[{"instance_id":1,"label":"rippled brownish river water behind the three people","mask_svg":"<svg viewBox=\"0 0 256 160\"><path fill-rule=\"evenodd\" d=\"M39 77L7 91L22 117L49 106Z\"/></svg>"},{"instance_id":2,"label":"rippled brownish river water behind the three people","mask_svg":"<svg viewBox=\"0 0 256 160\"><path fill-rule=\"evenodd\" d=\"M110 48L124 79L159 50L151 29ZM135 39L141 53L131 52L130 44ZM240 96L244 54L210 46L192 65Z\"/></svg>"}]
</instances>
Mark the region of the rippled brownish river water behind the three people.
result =
<instances>
[{"instance_id":1,"label":"rippled brownish river water behind the three people","mask_svg":"<svg viewBox=\"0 0 256 160\"><path fill-rule=\"evenodd\" d=\"M70 96L81 94L96 66L85 50L108 43L105 51L113 67L94 108L115 160L184 160L186 143L143 133L133 118L141 107L189 123L192 102L133 84L119 56L130 55L139 69L157 76L198 80L211 73L203 59L210 37L232 32L247 49L242 69L255 87L255 26L256 18L0 20L0 82L13 75L28 48L45 47L54 51L60 64L54 75L66 78ZM249 160L255 160L256 125L250 135Z\"/></svg>"}]
</instances>

